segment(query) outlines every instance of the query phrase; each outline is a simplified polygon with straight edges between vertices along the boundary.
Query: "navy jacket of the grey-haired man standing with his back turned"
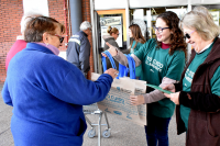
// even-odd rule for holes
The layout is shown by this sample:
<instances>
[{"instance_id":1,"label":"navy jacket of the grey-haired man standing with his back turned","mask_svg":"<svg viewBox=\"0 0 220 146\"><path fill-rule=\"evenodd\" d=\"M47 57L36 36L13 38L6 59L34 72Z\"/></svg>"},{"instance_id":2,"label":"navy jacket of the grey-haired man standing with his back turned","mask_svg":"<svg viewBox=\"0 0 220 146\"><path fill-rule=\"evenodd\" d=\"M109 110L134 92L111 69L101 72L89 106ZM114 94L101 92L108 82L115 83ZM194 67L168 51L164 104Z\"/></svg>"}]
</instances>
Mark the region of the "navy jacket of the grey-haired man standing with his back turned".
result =
<instances>
[{"instance_id":1,"label":"navy jacket of the grey-haired man standing with his back turned","mask_svg":"<svg viewBox=\"0 0 220 146\"><path fill-rule=\"evenodd\" d=\"M87 36L88 35L82 31L73 35L68 41L68 47L66 50L67 60L77 66L81 72L88 72L90 69L90 43Z\"/></svg>"}]
</instances>

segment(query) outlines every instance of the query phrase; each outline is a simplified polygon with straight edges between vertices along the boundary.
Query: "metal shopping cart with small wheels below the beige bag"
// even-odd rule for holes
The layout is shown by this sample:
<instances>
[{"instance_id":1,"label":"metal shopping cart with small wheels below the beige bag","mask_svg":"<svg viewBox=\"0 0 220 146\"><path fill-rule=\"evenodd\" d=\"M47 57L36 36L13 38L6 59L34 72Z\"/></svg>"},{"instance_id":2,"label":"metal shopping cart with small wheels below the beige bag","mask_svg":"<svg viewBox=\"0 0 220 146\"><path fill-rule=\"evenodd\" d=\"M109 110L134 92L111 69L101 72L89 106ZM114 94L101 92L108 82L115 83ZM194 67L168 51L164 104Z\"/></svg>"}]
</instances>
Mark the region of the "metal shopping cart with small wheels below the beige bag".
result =
<instances>
[{"instance_id":1,"label":"metal shopping cart with small wheels below the beige bag","mask_svg":"<svg viewBox=\"0 0 220 146\"><path fill-rule=\"evenodd\" d=\"M86 121L91 126L91 130L88 132L88 137L92 138L96 135L95 126L98 126L98 146L100 146L101 145L101 126L107 126L107 130L102 132L102 136L105 138L108 138L111 135L111 128L109 126L107 113L105 111L99 110L97 103L94 103L90 105L84 105L82 108L84 108L84 114L85 114ZM87 114L98 114L99 115L98 124L91 123L91 121L87 117ZM105 115L107 124L101 124L102 114Z\"/></svg>"}]
</instances>

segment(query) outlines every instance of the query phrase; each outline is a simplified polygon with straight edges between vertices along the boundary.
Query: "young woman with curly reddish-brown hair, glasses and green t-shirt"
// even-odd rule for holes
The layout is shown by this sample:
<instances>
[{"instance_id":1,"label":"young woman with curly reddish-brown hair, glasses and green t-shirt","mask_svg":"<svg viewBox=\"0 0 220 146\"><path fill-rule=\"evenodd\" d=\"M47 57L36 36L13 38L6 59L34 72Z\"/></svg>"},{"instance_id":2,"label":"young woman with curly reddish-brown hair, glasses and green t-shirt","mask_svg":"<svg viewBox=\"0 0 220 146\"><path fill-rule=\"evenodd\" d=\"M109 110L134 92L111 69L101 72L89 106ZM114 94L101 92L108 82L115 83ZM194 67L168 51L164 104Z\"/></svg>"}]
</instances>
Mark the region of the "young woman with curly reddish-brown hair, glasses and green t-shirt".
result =
<instances>
[{"instance_id":1,"label":"young woman with curly reddish-brown hair, glasses and green t-shirt","mask_svg":"<svg viewBox=\"0 0 220 146\"><path fill-rule=\"evenodd\" d=\"M143 70L143 80L147 83L165 87L180 79L186 58L184 34L178 27L176 13L167 11L156 19L156 38L148 40L131 56L135 65ZM114 58L128 66L127 57L111 46ZM105 54L103 54L105 55ZM145 94L131 96L131 104L147 103L147 126L145 126L148 146L168 146L168 124L174 113L175 104L161 91L147 87Z\"/></svg>"}]
</instances>

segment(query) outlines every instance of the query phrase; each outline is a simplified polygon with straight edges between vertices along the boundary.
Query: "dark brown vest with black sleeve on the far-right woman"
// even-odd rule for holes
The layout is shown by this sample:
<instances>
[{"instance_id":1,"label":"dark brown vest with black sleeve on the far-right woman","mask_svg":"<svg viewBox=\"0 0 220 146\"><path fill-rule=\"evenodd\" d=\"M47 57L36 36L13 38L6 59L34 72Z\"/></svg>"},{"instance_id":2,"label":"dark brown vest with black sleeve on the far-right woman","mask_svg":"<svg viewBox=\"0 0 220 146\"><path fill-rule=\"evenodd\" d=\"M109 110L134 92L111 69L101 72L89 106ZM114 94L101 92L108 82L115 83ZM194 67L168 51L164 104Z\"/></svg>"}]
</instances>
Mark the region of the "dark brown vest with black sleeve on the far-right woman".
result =
<instances>
[{"instance_id":1,"label":"dark brown vest with black sleeve on the far-right woman","mask_svg":"<svg viewBox=\"0 0 220 146\"><path fill-rule=\"evenodd\" d=\"M211 93L210 80L220 66L220 38L217 38L210 54L196 70L190 92L180 91L179 104L190 108L186 146L220 146L220 98ZM193 61L196 52L187 64L182 79L175 85L176 91L183 90L185 72ZM180 117L179 105L176 106L177 134L185 132Z\"/></svg>"}]
</instances>

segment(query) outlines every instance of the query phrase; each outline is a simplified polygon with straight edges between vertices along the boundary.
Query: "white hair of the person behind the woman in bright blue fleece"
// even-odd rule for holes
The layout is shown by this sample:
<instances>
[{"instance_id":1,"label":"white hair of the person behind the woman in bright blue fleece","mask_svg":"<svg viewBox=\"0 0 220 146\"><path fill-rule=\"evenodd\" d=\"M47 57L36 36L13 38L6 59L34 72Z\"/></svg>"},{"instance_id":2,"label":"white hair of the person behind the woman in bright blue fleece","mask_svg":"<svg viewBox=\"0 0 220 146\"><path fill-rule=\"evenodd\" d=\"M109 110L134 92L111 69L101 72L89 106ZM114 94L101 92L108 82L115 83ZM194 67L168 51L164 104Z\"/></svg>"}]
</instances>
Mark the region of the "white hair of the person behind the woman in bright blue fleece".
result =
<instances>
[{"instance_id":1,"label":"white hair of the person behind the woman in bright blue fleece","mask_svg":"<svg viewBox=\"0 0 220 146\"><path fill-rule=\"evenodd\" d=\"M36 16L43 16L42 14L40 13L34 13L34 12L29 12L29 13L24 13L22 19L21 19L21 34L24 34L24 31L26 29L26 24L29 23L30 20L32 20L33 18L36 18Z\"/></svg>"}]
</instances>

